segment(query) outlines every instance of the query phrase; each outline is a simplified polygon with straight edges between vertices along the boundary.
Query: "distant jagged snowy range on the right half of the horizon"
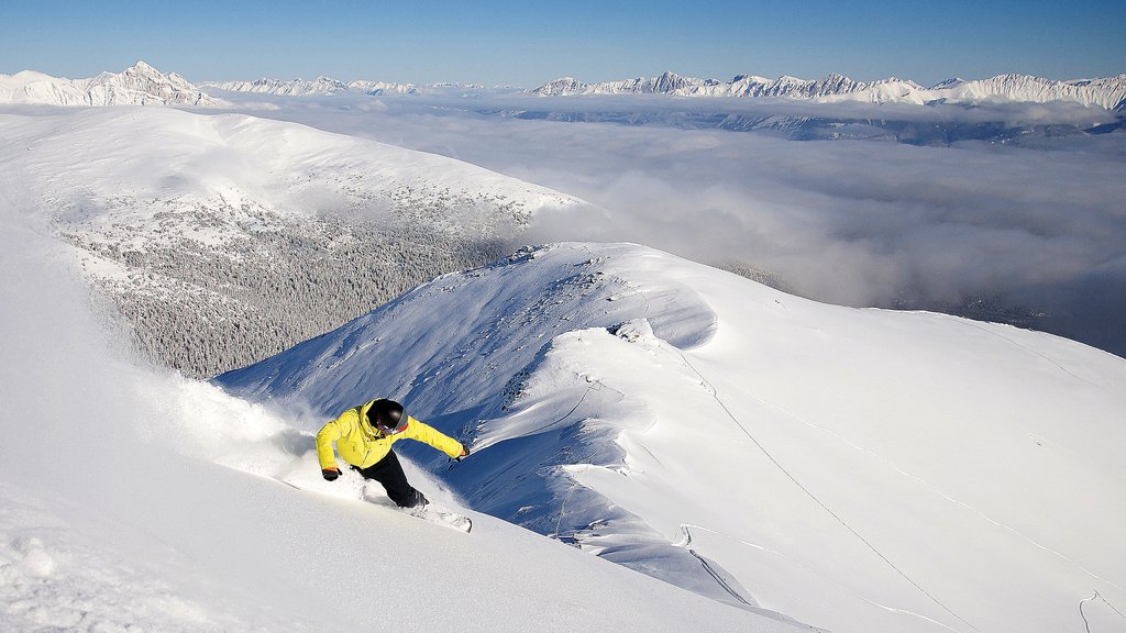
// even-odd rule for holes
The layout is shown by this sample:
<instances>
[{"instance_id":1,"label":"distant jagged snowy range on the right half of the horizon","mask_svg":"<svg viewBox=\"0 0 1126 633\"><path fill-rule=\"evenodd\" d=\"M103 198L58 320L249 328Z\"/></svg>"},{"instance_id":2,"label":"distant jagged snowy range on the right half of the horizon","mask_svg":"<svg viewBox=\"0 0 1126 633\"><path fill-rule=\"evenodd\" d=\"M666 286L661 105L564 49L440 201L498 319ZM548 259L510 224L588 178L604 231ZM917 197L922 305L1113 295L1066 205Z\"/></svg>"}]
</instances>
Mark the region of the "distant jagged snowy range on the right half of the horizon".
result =
<instances>
[{"instance_id":1,"label":"distant jagged snowy range on the right half of the horizon","mask_svg":"<svg viewBox=\"0 0 1126 633\"><path fill-rule=\"evenodd\" d=\"M681 97L785 97L816 101L870 102L1075 101L1106 109L1121 108L1126 100L1126 73L1105 79L1056 81L1027 74L1001 74L966 81L951 79L924 88L897 78L856 81L841 74L819 80L794 77L767 79L741 74L730 81L696 79L665 72L655 78L587 83L571 77L551 81L530 92L540 96L574 95L674 95Z\"/></svg>"}]
</instances>

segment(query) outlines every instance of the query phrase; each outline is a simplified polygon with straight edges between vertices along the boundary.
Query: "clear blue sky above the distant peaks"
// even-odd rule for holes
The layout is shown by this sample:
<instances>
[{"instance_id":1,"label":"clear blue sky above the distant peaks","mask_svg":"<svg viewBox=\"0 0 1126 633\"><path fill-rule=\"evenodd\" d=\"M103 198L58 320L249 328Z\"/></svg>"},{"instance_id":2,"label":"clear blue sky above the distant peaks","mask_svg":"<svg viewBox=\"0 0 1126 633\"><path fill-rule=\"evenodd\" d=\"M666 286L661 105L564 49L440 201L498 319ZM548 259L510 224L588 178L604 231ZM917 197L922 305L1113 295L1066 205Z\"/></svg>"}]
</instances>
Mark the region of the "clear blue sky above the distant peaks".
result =
<instances>
[{"instance_id":1,"label":"clear blue sky above the distant peaks","mask_svg":"<svg viewBox=\"0 0 1126 633\"><path fill-rule=\"evenodd\" d=\"M1126 72L1124 24L1121 0L0 0L0 73L82 78L144 60L193 81L1074 79Z\"/></svg>"}]
</instances>

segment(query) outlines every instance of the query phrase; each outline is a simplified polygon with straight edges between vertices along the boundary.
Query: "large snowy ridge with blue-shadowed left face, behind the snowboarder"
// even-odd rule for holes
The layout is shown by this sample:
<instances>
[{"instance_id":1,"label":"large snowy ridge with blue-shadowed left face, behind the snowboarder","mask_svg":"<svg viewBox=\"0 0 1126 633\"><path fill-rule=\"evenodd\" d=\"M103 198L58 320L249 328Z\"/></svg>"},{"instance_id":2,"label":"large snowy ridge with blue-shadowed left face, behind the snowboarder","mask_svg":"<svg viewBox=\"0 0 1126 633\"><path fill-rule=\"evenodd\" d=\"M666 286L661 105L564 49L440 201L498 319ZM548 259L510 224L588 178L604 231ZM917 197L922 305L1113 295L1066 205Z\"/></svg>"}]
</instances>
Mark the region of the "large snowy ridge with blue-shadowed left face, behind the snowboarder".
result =
<instances>
[{"instance_id":1,"label":"large snowy ridge with blue-shadowed left face, behind the snowboarder","mask_svg":"<svg viewBox=\"0 0 1126 633\"><path fill-rule=\"evenodd\" d=\"M743 608L1126 626L1126 362L1049 335L565 243L217 382L306 433L396 398L472 444L456 465L399 445L467 506Z\"/></svg>"}]
</instances>

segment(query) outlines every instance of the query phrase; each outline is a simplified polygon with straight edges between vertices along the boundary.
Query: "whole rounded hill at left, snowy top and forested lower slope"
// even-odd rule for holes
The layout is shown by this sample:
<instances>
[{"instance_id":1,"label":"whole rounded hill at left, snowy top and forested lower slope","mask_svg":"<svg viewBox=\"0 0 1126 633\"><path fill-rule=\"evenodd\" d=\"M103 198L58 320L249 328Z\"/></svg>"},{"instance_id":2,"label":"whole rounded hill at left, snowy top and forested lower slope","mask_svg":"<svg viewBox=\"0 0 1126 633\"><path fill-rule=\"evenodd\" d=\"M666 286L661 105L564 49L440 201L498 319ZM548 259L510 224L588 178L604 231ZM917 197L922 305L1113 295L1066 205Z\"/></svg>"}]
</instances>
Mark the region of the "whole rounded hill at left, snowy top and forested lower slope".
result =
<instances>
[{"instance_id":1,"label":"whole rounded hill at left, snowy top and forested lower slope","mask_svg":"<svg viewBox=\"0 0 1126 633\"><path fill-rule=\"evenodd\" d=\"M0 181L151 358L213 376L443 273L577 198L435 154L173 108L0 117Z\"/></svg>"}]
</instances>

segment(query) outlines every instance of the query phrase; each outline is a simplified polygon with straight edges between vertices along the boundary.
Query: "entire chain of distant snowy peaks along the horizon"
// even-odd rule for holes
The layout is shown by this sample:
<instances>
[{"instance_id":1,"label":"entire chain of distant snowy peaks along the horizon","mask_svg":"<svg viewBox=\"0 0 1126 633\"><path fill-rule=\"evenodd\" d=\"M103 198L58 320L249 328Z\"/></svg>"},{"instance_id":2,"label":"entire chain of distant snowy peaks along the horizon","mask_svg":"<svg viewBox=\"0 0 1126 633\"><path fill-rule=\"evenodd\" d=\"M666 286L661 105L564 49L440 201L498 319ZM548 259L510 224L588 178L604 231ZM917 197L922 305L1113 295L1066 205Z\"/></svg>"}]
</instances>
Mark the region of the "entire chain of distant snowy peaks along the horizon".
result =
<instances>
[{"instance_id":1,"label":"entire chain of distant snowy peaks along the horizon","mask_svg":"<svg viewBox=\"0 0 1126 633\"><path fill-rule=\"evenodd\" d=\"M393 83L356 80L343 82L329 77L315 80L258 79L253 81L204 82L199 87L179 74L164 74L145 62L120 73L104 72L90 79L63 79L35 71L0 74L0 104L48 104L57 106L222 106L222 99L205 89L286 97L309 97L341 92L366 95L420 95L449 90L482 91L475 83ZM500 89L497 89L500 90ZM519 89L508 89L517 92ZM1056 81L1027 74L999 74L991 79L949 79L930 88L914 81L888 78L857 81L842 74L805 80L795 77L767 79L741 74L730 81L697 79L665 72L653 78L588 83L574 78L556 79L525 93L547 97L580 95L668 95L677 97L775 97L821 102L860 101L872 104L999 104L1072 101L1108 110L1126 109L1126 73L1102 79Z\"/></svg>"}]
</instances>

